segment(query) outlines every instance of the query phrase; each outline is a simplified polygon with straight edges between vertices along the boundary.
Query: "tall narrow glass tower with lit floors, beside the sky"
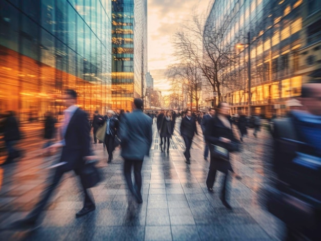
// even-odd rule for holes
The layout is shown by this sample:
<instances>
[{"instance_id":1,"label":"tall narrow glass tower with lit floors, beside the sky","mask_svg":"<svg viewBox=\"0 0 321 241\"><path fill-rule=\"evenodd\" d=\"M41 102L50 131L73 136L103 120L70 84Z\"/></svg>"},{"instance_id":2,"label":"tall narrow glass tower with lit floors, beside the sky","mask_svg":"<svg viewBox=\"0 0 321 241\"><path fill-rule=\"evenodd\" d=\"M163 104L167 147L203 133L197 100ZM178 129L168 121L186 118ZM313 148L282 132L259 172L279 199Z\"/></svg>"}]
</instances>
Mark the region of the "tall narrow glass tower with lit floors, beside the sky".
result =
<instances>
[{"instance_id":1,"label":"tall narrow glass tower with lit floors, beside the sky","mask_svg":"<svg viewBox=\"0 0 321 241\"><path fill-rule=\"evenodd\" d=\"M112 0L112 107L131 110L146 91L147 1Z\"/></svg>"}]
</instances>

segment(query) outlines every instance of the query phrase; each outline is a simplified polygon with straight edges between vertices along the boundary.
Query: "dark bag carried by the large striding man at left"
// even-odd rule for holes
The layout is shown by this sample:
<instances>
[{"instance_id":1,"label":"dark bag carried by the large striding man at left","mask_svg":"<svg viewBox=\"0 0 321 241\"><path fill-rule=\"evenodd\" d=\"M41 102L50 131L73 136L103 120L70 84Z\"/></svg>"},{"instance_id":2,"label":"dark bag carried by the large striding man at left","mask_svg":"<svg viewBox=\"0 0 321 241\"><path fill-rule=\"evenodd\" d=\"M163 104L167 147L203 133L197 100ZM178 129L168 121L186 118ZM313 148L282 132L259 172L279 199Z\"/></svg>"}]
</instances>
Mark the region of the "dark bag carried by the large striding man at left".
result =
<instances>
[{"instance_id":1,"label":"dark bag carried by the large striding man at left","mask_svg":"<svg viewBox=\"0 0 321 241\"><path fill-rule=\"evenodd\" d=\"M86 162L79 173L81 182L85 188L93 187L102 180L102 175L95 164L96 161Z\"/></svg>"}]
</instances>

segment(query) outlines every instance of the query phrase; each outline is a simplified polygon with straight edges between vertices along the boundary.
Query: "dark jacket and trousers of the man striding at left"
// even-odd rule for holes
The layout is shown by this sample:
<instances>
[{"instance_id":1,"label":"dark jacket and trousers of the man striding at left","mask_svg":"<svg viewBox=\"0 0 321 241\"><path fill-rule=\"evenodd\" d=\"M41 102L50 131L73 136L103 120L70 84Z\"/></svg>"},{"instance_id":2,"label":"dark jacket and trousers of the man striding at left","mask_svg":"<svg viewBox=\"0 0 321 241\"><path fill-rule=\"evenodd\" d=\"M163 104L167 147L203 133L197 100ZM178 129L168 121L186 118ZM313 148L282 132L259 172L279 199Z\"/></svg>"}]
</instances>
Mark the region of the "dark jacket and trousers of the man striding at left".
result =
<instances>
[{"instance_id":1,"label":"dark jacket and trousers of the man striding at left","mask_svg":"<svg viewBox=\"0 0 321 241\"><path fill-rule=\"evenodd\" d=\"M84 165L84 157L90 156L89 135L90 125L88 124L87 114L77 108L67 126L65 145L60 158L60 162L67 162L67 164L58 166L55 169L51 182L42 193L41 201L39 201L32 212L28 214L28 220L37 220L65 172L74 170L76 174L79 174L79 171ZM94 206L94 202L90 198L86 188L83 187L83 190L85 193L84 207Z\"/></svg>"}]
</instances>

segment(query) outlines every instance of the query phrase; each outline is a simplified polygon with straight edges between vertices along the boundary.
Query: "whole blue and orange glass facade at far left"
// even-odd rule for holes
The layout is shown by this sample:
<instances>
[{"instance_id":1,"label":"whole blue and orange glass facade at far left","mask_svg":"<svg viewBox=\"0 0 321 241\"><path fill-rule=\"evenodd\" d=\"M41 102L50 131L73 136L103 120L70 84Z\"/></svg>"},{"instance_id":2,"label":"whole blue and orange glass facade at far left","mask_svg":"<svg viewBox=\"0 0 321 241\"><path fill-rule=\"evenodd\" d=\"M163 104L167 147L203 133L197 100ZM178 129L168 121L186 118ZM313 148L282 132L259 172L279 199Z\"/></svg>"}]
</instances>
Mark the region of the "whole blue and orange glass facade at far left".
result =
<instances>
[{"instance_id":1,"label":"whole blue and orange glass facade at far left","mask_svg":"<svg viewBox=\"0 0 321 241\"><path fill-rule=\"evenodd\" d=\"M0 113L21 120L61 112L78 92L92 113L111 107L111 2L0 0Z\"/></svg>"}]
</instances>

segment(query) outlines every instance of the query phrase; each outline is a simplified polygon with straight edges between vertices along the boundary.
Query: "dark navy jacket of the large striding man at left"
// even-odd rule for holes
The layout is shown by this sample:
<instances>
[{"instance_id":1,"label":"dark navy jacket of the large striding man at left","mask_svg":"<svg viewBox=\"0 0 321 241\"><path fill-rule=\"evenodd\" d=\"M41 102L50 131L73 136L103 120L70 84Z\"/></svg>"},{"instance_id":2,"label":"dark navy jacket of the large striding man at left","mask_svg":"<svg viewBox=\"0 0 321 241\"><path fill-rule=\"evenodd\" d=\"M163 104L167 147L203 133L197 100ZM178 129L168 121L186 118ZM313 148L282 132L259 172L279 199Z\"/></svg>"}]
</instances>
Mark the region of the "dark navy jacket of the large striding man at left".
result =
<instances>
[{"instance_id":1,"label":"dark navy jacket of the large striding man at left","mask_svg":"<svg viewBox=\"0 0 321 241\"><path fill-rule=\"evenodd\" d=\"M60 161L67 162L67 164L62 167L63 170L81 168L85 163L84 157L86 156L90 156L90 125L87 113L77 108L65 133L65 146Z\"/></svg>"}]
</instances>

